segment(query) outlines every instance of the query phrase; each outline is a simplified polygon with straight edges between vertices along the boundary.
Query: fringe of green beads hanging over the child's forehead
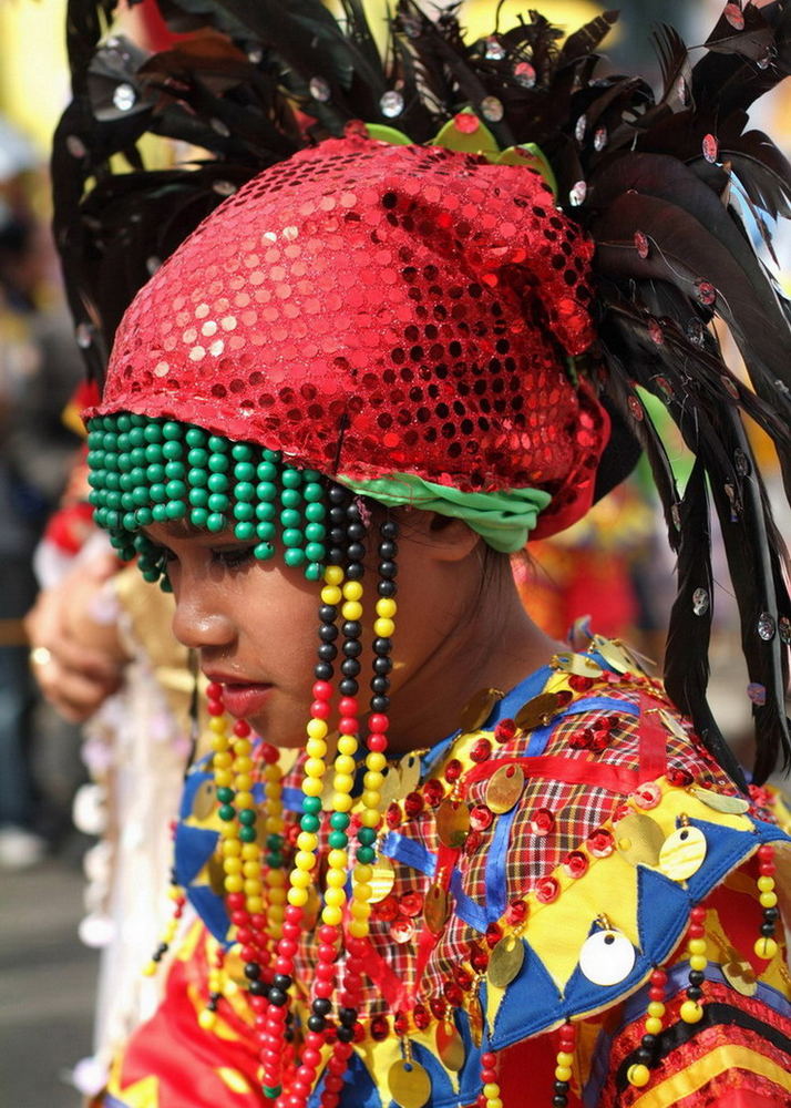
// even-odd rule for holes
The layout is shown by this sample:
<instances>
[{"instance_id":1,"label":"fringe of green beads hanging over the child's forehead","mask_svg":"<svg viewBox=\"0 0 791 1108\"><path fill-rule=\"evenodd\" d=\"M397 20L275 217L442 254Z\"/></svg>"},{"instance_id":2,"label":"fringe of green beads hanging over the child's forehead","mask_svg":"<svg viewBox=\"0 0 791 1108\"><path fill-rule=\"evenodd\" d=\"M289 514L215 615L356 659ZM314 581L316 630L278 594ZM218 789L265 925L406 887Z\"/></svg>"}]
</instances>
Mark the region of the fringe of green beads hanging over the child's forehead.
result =
<instances>
[{"instance_id":1,"label":"fringe of green beads hanging over the child's forehead","mask_svg":"<svg viewBox=\"0 0 791 1108\"><path fill-rule=\"evenodd\" d=\"M124 561L170 591L152 523L184 520L218 533L233 527L259 561L274 557L320 581L327 562L327 489L320 473L284 462L279 451L232 442L203 428L121 412L88 423L94 520Z\"/></svg>"}]
</instances>

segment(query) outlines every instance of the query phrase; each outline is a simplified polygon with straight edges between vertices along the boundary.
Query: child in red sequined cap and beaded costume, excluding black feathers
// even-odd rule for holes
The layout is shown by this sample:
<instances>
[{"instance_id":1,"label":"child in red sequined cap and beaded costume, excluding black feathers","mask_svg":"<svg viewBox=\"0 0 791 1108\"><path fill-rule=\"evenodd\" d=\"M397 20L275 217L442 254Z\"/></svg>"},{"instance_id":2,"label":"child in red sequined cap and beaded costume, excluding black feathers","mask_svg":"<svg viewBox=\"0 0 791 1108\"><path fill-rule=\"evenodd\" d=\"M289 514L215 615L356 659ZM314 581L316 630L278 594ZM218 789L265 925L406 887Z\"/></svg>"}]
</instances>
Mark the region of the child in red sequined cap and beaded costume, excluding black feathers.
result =
<instances>
[{"instance_id":1,"label":"child in red sequined cap and beaded costume, excluding black feathers","mask_svg":"<svg viewBox=\"0 0 791 1108\"><path fill-rule=\"evenodd\" d=\"M592 239L524 165L350 134L255 177L125 314L89 412L96 520L175 594L212 752L176 838L177 915L188 897L202 922L104 1104L791 1100L789 839L712 755L692 671L699 509L725 464L703 418L723 450L737 432L719 377L706 402L689 380L727 370L677 327L680 293L631 331L603 321L608 218L595 276ZM638 276L656 250L639 236ZM620 644L543 635L508 562L600 494L623 437L599 391L624 399L617 366L651 334L700 431L675 656L706 741ZM784 442L781 383L753 408ZM636 392L626 407L640 424ZM734 520L747 459L738 490L713 489ZM748 514L740 535L764 526ZM748 653L773 643L779 673L788 598L753 570L774 593ZM763 724L764 776L784 736Z\"/></svg>"}]
</instances>

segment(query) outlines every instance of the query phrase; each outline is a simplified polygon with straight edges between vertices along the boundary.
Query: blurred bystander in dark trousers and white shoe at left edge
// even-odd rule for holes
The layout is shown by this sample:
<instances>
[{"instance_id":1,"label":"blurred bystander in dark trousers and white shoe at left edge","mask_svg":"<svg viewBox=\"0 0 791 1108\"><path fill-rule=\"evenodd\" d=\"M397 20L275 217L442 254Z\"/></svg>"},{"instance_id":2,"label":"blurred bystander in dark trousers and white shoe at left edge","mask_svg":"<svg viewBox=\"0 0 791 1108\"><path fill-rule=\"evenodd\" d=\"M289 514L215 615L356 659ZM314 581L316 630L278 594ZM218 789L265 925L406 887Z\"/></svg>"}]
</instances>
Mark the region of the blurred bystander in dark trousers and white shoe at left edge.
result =
<instances>
[{"instance_id":1,"label":"blurred bystander in dark trousers and white shoe at left edge","mask_svg":"<svg viewBox=\"0 0 791 1108\"><path fill-rule=\"evenodd\" d=\"M9 164L19 171L12 160ZM21 617L37 591L32 554L78 443L61 416L81 372L64 314L47 305L48 244L42 226L19 203L18 178L17 172L0 184L0 866L6 868L33 864L44 851L32 769L34 694Z\"/></svg>"}]
</instances>

